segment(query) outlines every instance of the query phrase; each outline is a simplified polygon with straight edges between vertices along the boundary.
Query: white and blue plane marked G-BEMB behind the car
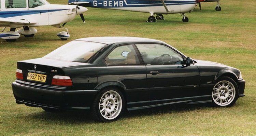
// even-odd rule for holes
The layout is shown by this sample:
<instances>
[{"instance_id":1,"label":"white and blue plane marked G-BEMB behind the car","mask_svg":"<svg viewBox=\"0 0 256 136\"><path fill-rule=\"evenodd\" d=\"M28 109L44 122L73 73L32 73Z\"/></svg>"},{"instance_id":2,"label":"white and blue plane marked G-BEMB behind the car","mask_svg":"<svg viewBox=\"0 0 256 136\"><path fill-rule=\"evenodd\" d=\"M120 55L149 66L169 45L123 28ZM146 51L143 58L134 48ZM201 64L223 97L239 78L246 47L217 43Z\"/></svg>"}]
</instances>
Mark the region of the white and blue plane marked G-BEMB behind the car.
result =
<instances>
[{"instance_id":1,"label":"white and blue plane marked G-BEMB behind the car","mask_svg":"<svg viewBox=\"0 0 256 136\"><path fill-rule=\"evenodd\" d=\"M86 7L108 8L114 10L150 13L147 22L162 20L162 14L181 13L183 22L188 22L185 13L191 12L198 0L69 0L69 4ZM156 14L156 18L154 15Z\"/></svg>"}]
</instances>

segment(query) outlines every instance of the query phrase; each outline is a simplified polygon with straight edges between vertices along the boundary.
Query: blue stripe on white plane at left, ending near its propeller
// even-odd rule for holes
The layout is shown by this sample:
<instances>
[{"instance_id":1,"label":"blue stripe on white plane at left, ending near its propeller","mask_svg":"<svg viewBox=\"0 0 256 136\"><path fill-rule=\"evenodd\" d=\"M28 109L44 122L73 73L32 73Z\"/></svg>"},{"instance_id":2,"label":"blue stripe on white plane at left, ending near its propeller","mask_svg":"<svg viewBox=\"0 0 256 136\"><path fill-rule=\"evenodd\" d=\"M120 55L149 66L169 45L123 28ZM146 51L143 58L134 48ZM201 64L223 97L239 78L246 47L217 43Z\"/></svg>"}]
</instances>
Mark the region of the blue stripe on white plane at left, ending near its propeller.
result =
<instances>
[{"instance_id":1,"label":"blue stripe on white plane at left, ending near its propeller","mask_svg":"<svg viewBox=\"0 0 256 136\"><path fill-rule=\"evenodd\" d=\"M32 15L32 14L40 14L40 13L48 13L55 11L63 11L68 9L60 9L60 10L27 10L27 11L0 11L0 17L16 17L16 16L24 16L24 15Z\"/></svg>"}]
</instances>

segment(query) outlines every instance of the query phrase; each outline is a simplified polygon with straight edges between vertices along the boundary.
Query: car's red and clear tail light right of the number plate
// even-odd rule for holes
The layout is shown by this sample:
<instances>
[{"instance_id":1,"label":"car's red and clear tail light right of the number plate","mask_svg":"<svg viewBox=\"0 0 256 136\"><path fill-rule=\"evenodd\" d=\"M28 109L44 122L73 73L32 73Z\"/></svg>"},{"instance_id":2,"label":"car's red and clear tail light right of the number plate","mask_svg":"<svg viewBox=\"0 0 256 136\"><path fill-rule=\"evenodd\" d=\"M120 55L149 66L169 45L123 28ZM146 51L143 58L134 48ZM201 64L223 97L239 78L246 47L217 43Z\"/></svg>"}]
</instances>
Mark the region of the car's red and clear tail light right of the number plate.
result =
<instances>
[{"instance_id":1,"label":"car's red and clear tail light right of the number plate","mask_svg":"<svg viewBox=\"0 0 256 136\"><path fill-rule=\"evenodd\" d=\"M68 76L54 75L52 85L72 86L72 80Z\"/></svg>"}]
</instances>

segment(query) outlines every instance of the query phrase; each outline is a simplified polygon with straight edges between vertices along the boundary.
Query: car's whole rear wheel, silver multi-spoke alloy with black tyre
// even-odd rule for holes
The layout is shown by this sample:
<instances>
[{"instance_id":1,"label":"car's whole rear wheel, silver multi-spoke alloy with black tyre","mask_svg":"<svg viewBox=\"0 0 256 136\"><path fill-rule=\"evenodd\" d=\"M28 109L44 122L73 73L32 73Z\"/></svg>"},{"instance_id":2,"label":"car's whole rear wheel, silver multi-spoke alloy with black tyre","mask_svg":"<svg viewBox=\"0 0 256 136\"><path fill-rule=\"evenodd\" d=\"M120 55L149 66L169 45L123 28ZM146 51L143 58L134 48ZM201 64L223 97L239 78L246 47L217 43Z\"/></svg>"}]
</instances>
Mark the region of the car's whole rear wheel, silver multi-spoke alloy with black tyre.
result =
<instances>
[{"instance_id":1,"label":"car's whole rear wheel, silver multi-spoke alloy with black tyre","mask_svg":"<svg viewBox=\"0 0 256 136\"><path fill-rule=\"evenodd\" d=\"M124 109L125 101L122 92L111 87L99 92L93 102L91 113L96 121L111 122L120 118Z\"/></svg>"}]
</instances>

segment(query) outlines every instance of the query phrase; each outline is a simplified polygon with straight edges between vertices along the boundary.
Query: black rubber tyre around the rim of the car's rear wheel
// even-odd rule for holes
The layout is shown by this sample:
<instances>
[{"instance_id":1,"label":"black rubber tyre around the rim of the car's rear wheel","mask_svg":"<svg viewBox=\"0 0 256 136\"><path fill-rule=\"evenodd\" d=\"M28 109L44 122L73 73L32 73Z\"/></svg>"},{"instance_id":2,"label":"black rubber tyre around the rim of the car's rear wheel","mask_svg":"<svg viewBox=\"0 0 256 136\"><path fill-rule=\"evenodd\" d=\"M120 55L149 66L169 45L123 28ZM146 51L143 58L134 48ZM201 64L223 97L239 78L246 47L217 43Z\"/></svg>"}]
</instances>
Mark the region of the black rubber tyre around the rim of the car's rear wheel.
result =
<instances>
[{"instance_id":1,"label":"black rubber tyre around the rim of the car's rear wheel","mask_svg":"<svg viewBox=\"0 0 256 136\"><path fill-rule=\"evenodd\" d=\"M123 103L120 114L119 114L116 118L114 118L114 119L112 119L112 120L107 120L107 119L105 119L104 117L102 117L102 115L100 114L99 108L98 108L98 107L99 107L98 104L99 104L99 101L100 101L102 95L103 95L105 92L109 91L109 90L114 90L114 91L116 91L116 92L120 95L120 97L122 98L122 103ZM115 88L115 87L105 88L105 89L101 90L101 91L97 94L97 96L96 96L96 98L95 98L95 100L94 100L94 102L93 102L93 105L91 106L91 115L93 116L94 120L95 120L95 121L98 121L98 122L112 122L112 121L116 121L117 119L120 118L120 116L122 116L122 114L123 114L123 112L124 112L124 109L126 108L125 105L126 105L126 104L125 104L124 95L122 94L122 92L121 92L118 88Z\"/></svg>"}]
</instances>

